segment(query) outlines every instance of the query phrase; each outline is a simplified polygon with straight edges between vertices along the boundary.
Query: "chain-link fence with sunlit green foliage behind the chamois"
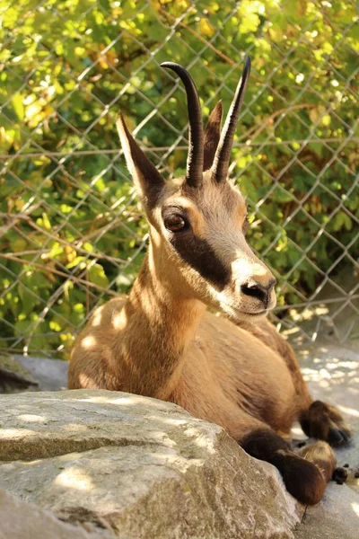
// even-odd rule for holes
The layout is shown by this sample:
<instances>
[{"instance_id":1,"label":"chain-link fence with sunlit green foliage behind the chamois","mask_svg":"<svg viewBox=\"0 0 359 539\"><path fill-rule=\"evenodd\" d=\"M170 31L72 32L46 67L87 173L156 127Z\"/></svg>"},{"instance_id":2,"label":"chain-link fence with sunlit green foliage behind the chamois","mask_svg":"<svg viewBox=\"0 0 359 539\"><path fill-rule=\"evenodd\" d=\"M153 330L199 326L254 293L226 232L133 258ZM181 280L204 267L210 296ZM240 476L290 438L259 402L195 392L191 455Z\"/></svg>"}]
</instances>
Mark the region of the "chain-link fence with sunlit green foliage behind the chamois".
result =
<instances>
[{"instance_id":1,"label":"chain-link fence with sunlit green foliage behind the chamois","mask_svg":"<svg viewBox=\"0 0 359 539\"><path fill-rule=\"evenodd\" d=\"M0 0L0 350L68 358L97 305L136 278L147 226L119 149L184 172L188 68L204 115L250 84L232 177L249 243L278 280L278 328L359 337L355 2Z\"/></svg>"}]
</instances>

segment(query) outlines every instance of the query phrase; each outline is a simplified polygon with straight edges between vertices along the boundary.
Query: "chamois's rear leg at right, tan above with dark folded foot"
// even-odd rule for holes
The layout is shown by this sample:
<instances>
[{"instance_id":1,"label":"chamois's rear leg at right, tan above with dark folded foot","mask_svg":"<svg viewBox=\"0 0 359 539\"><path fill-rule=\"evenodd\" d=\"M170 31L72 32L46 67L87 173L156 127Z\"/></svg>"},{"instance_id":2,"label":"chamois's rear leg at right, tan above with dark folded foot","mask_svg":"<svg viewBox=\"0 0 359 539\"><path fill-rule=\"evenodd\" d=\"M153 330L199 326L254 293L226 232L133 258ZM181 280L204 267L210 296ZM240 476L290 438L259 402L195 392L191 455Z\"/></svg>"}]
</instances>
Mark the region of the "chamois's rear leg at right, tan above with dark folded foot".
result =
<instances>
[{"instance_id":1,"label":"chamois's rear leg at right, tan above with dark folded foot","mask_svg":"<svg viewBox=\"0 0 359 539\"><path fill-rule=\"evenodd\" d=\"M321 401L313 402L291 345L267 320L260 325L250 325L245 329L285 359L285 364L293 378L295 404L303 432L308 437L325 440L331 446L346 444L351 437L350 428L334 406Z\"/></svg>"}]
</instances>

